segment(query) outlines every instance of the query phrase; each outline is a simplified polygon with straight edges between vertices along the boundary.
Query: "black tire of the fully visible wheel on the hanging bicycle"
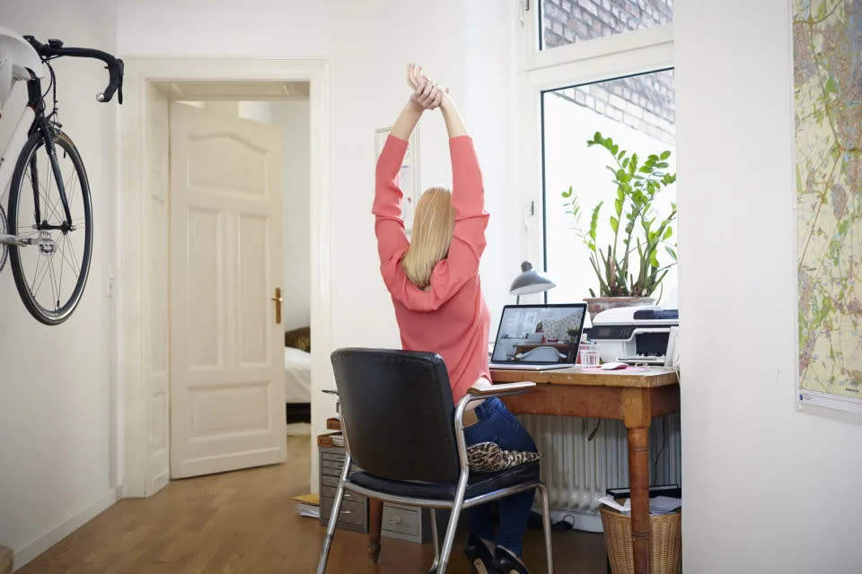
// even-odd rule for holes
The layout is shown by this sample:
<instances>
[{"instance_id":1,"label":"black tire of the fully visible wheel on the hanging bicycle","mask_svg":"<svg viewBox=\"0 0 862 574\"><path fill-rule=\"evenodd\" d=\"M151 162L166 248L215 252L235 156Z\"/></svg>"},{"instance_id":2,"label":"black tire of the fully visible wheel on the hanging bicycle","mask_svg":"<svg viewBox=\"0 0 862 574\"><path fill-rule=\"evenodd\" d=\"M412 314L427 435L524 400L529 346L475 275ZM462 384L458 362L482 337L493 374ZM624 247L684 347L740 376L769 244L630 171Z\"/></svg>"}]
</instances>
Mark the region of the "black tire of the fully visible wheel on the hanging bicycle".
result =
<instances>
[{"instance_id":1,"label":"black tire of the fully visible wheel on the hanging bicycle","mask_svg":"<svg viewBox=\"0 0 862 574\"><path fill-rule=\"evenodd\" d=\"M22 191L25 170L30 166L31 159L35 157L35 153L39 151L45 143L45 137L37 131L31 135L27 143L24 144L21 153L18 155L18 161L15 164L15 170L12 177L12 185L9 189L9 209L7 213L7 223L9 233L18 234L18 201ZM46 309L40 302L36 300L35 295L31 292L27 284L26 277L22 267L21 255L19 253L21 247L9 246L9 264L12 267L12 273L15 280L15 286L18 288L18 294L24 307L30 312L31 316L40 323L49 326L56 326L71 317L72 313L81 302L81 297L84 295L84 287L87 283L87 278L90 274L90 260L92 258L92 204L90 199L90 182L87 179L87 172L84 169L84 161L81 159L81 154L75 147L75 143L71 138L60 130L55 130L52 134L55 146L57 146L57 154L62 149L71 159L73 166L81 185L81 196L84 200L84 257L80 273L75 281L75 288L72 295L65 304L58 309ZM52 176L53 177L53 176ZM26 247L38 248L38 247Z\"/></svg>"}]
</instances>

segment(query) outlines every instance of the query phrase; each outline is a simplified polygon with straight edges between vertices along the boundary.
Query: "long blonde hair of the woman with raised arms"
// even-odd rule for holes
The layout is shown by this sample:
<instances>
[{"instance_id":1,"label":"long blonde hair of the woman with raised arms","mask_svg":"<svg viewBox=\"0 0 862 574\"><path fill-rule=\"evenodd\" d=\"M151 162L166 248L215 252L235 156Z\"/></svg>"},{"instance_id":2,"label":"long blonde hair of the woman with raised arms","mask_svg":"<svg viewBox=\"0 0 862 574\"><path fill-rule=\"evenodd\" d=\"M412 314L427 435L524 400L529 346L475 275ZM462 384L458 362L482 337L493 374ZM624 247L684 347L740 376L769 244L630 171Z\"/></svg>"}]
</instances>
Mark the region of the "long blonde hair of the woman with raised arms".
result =
<instances>
[{"instance_id":1,"label":"long blonde hair of the woman with raised arms","mask_svg":"<svg viewBox=\"0 0 862 574\"><path fill-rule=\"evenodd\" d=\"M429 187L416 205L413 237L401 259L401 268L411 283L425 289L437 263L449 255L455 210L452 192L445 187Z\"/></svg>"}]
</instances>

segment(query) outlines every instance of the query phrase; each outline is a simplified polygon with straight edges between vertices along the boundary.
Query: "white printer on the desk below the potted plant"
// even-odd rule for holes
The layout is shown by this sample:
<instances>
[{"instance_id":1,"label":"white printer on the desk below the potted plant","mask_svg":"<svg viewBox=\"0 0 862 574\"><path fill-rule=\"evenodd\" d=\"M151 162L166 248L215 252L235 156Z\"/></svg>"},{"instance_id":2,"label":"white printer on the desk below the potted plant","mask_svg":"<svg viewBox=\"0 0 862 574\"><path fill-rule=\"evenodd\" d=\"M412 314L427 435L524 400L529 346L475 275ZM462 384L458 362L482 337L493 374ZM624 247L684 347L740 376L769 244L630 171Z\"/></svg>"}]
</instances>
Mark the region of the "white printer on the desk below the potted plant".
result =
<instances>
[{"instance_id":1,"label":"white printer on the desk below the potted plant","mask_svg":"<svg viewBox=\"0 0 862 574\"><path fill-rule=\"evenodd\" d=\"M678 309L619 307L595 316L589 338L604 362L664 365L673 326L680 326Z\"/></svg>"}]
</instances>

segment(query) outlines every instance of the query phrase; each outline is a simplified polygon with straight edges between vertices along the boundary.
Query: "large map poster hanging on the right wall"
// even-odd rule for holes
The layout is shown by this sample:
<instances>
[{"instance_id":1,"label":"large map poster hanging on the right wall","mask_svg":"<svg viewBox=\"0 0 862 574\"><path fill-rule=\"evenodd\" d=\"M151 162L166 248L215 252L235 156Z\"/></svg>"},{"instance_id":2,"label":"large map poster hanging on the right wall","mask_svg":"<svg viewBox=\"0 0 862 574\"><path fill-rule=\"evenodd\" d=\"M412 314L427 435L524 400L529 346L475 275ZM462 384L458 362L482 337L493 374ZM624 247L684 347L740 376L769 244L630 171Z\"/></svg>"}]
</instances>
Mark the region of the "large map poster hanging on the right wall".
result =
<instances>
[{"instance_id":1,"label":"large map poster hanging on the right wall","mask_svg":"<svg viewBox=\"0 0 862 574\"><path fill-rule=\"evenodd\" d=\"M862 413L862 2L792 5L797 404Z\"/></svg>"}]
</instances>

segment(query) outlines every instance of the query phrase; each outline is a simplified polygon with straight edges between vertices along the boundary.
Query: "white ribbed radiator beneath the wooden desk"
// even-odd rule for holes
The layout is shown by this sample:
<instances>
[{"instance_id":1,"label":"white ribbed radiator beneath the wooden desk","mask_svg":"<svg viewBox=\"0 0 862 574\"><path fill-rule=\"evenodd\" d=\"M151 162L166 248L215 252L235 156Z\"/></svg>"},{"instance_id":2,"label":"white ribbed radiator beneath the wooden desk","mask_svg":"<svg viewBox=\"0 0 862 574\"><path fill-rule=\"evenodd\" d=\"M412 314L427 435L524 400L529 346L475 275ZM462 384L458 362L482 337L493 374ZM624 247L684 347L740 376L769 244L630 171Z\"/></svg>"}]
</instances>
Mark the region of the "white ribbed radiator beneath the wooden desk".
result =
<instances>
[{"instance_id":1,"label":"white ribbed radiator beneath the wooden desk","mask_svg":"<svg viewBox=\"0 0 862 574\"><path fill-rule=\"evenodd\" d=\"M601 532L598 499L608 488L629 486L625 425L603 419L594 438L587 440L600 419L538 414L518 418L541 452L541 480L548 488L554 519L567 517L580 530ZM654 419L649 431L649 483L682 486L680 456L680 414Z\"/></svg>"}]
</instances>

